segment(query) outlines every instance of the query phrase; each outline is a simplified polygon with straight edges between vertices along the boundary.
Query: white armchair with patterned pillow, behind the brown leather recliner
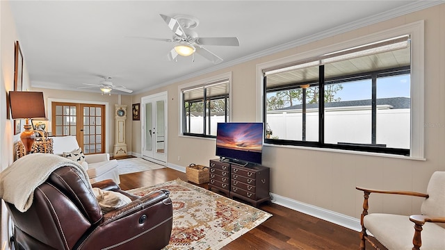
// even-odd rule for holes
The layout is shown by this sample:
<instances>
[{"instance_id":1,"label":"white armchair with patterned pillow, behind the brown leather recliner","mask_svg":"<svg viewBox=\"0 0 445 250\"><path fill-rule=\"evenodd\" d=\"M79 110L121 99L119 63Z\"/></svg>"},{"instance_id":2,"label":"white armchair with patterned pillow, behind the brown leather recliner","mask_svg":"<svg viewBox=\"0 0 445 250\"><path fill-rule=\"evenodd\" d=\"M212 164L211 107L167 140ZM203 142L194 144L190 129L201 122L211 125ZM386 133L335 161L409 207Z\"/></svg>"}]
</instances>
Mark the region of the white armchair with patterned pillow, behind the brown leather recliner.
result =
<instances>
[{"instance_id":1,"label":"white armchair with patterned pillow, behind the brown leather recliner","mask_svg":"<svg viewBox=\"0 0 445 250\"><path fill-rule=\"evenodd\" d=\"M53 151L58 156L63 156L63 153L69 153L79 149L76 137L61 136L53 137ZM82 166L86 169L91 183L111 179L115 183L120 183L118 172L118 161L110 160L109 153L97 153L85 156L85 162Z\"/></svg>"}]
</instances>

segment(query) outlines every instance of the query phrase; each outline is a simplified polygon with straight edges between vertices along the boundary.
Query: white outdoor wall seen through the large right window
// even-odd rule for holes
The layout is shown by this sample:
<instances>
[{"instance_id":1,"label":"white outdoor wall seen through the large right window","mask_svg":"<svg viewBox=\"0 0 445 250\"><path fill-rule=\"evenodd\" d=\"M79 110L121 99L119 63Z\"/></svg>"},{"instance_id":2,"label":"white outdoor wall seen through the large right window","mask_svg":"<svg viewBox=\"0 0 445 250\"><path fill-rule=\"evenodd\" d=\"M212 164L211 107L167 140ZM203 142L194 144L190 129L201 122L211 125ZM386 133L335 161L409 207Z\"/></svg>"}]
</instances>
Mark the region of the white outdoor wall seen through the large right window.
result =
<instances>
[{"instance_id":1,"label":"white outdoor wall seen through the large right window","mask_svg":"<svg viewBox=\"0 0 445 250\"><path fill-rule=\"evenodd\" d=\"M223 117L224 118L224 117ZM192 119L193 121L193 119ZM377 143L398 149L410 148L410 109L378 109ZM302 140L302 113L273 111L267 115L272 138ZM306 114L306 140L318 141L318 112ZM371 143L371 108L357 110L327 110L325 113L325 143Z\"/></svg>"}]
</instances>

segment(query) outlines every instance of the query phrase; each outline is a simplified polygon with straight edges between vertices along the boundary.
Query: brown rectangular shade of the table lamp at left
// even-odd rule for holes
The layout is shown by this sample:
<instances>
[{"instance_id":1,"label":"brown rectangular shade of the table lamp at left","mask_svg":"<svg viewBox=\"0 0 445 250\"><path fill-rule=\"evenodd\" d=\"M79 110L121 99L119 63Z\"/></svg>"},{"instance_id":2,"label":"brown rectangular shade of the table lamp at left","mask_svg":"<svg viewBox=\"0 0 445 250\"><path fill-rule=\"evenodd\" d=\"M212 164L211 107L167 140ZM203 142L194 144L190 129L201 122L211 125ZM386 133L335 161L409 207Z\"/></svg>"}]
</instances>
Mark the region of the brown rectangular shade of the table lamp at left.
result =
<instances>
[{"instance_id":1,"label":"brown rectangular shade of the table lamp at left","mask_svg":"<svg viewBox=\"0 0 445 250\"><path fill-rule=\"evenodd\" d=\"M10 91L13 119L45 118L43 92Z\"/></svg>"}]
</instances>

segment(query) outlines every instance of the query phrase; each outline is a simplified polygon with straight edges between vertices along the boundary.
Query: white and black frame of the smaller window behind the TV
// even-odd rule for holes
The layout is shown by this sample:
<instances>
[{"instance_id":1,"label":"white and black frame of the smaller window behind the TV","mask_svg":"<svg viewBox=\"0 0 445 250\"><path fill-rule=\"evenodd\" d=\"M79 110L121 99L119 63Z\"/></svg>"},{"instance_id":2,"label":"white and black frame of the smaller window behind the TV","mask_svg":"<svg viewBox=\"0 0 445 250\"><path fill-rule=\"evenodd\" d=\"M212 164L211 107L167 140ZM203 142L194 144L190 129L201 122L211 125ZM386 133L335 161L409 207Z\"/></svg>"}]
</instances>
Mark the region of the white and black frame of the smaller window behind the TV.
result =
<instances>
[{"instance_id":1,"label":"white and black frame of the smaller window behind the TV","mask_svg":"<svg viewBox=\"0 0 445 250\"><path fill-rule=\"evenodd\" d=\"M227 118L225 118L227 120L227 122L231 122L232 119L232 72L228 72L225 74L219 74L217 76L211 76L209 78L204 78L202 80L199 81L193 81L191 83L186 83L183 85L179 85L178 86L178 99L179 99L179 131L178 131L178 135L179 136L191 136L194 138L216 138L215 135L208 135L207 131L210 129L209 126L205 126L204 127L204 133L186 133L184 132L184 129L186 128L186 120L185 118L185 101L184 101L184 90L191 90L193 88L201 88L201 87L205 87L205 86L211 86L214 85L215 83L217 83L218 81L222 81L224 79L227 79L229 82L229 93L228 93L228 97L225 97L226 100L226 106L229 107L228 113L227 110L225 112L225 117L229 117L228 120ZM206 96L206 91L204 88L204 97ZM209 103L209 101L213 100L214 98L211 99L206 99L204 101L204 113L206 110L206 106ZM228 99L228 103L227 103L227 99ZM204 114L203 113L203 114ZM204 116L204 124L208 124L210 121L206 120L209 119L209 117Z\"/></svg>"}]
</instances>

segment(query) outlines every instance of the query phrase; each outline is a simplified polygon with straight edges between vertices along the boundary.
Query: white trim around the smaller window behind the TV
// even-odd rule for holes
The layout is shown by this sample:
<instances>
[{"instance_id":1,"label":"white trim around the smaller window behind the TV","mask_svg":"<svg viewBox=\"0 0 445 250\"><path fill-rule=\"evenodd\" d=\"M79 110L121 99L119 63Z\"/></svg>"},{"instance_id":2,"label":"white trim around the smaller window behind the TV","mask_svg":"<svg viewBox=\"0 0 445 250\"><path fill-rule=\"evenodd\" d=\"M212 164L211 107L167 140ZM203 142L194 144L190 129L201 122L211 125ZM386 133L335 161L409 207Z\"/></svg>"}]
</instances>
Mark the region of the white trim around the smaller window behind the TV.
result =
<instances>
[{"instance_id":1,"label":"white trim around the smaller window behind the TV","mask_svg":"<svg viewBox=\"0 0 445 250\"><path fill-rule=\"evenodd\" d=\"M229 121L232 120L232 72L227 72L224 74L219 74L217 76L211 76L209 78L204 78L202 80L198 80L198 81L193 81L191 83L185 83L182 85L178 86L178 109L179 109L179 131L178 131L178 136L186 136L188 137L188 135L183 135L182 131L183 131L183 126L184 126L184 122L182 121L182 119L184 118L184 108L182 107L183 103L184 103L184 98L182 96L182 90L184 89L190 89L193 87L198 87L198 86L202 86L205 85L207 83L211 83L213 81L218 81L221 80L223 78L227 78L229 79ZM203 139L207 139L207 138L203 138Z\"/></svg>"}]
</instances>

